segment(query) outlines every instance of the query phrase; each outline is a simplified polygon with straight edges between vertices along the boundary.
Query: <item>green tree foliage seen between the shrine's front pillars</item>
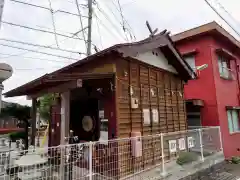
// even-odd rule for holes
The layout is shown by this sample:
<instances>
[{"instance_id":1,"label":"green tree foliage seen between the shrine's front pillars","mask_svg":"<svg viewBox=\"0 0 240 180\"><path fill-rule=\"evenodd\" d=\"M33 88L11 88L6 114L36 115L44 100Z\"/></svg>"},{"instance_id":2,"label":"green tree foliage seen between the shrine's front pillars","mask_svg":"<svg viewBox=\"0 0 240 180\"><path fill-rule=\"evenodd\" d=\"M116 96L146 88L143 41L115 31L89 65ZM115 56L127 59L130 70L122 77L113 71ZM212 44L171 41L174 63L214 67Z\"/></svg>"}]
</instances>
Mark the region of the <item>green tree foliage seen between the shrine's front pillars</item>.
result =
<instances>
[{"instance_id":1,"label":"green tree foliage seen between the shrine's front pillars","mask_svg":"<svg viewBox=\"0 0 240 180\"><path fill-rule=\"evenodd\" d=\"M39 99L39 113L40 117L45 120L49 121L51 114L50 108L54 102L54 94L46 94Z\"/></svg>"}]
</instances>

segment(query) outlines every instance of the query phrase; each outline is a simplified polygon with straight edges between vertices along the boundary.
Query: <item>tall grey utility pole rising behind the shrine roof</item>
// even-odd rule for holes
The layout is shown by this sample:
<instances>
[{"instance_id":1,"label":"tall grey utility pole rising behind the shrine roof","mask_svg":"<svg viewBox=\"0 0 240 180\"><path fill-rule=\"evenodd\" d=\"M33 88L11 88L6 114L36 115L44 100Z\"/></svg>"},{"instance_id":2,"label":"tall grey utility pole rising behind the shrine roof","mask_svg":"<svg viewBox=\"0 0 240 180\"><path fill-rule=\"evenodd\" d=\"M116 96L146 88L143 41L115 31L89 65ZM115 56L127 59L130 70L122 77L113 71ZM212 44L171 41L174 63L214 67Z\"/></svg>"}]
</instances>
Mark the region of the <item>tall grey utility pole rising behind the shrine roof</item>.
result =
<instances>
[{"instance_id":1,"label":"tall grey utility pole rising behind the shrine roof","mask_svg":"<svg viewBox=\"0 0 240 180\"><path fill-rule=\"evenodd\" d=\"M92 47L92 0L88 0L88 40L87 40L87 55L91 55Z\"/></svg>"}]
</instances>

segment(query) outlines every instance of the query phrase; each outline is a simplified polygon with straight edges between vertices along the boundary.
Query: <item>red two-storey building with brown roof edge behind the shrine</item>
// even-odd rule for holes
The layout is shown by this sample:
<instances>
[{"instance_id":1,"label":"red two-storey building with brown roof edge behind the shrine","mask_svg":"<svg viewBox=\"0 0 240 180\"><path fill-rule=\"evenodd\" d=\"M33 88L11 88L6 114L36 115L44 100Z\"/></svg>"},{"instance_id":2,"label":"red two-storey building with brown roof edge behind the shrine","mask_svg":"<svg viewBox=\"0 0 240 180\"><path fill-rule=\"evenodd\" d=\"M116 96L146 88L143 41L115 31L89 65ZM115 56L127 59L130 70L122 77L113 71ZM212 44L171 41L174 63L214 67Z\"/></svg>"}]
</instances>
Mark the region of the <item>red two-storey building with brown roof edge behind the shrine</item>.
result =
<instances>
[{"instance_id":1,"label":"red two-storey building with brown roof edge behind the shrine","mask_svg":"<svg viewBox=\"0 0 240 180\"><path fill-rule=\"evenodd\" d=\"M184 88L188 126L220 126L225 157L240 155L240 42L216 22L172 39L198 75Z\"/></svg>"}]
</instances>

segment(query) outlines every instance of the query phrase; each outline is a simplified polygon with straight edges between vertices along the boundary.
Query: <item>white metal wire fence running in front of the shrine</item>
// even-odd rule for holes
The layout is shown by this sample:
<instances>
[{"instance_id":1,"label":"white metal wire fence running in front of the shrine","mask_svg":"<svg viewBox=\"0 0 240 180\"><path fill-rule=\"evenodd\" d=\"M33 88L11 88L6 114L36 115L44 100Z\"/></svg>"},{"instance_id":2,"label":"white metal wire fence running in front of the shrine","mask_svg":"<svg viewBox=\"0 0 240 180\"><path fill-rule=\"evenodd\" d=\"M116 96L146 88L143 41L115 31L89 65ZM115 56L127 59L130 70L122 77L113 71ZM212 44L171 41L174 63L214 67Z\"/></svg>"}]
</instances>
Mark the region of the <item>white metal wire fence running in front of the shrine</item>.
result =
<instances>
[{"instance_id":1,"label":"white metal wire fence running in front of the shrine","mask_svg":"<svg viewBox=\"0 0 240 180\"><path fill-rule=\"evenodd\" d=\"M0 153L0 180L150 179L222 153L219 127ZM185 159L184 159L185 156ZM185 164L186 163L186 166Z\"/></svg>"}]
</instances>

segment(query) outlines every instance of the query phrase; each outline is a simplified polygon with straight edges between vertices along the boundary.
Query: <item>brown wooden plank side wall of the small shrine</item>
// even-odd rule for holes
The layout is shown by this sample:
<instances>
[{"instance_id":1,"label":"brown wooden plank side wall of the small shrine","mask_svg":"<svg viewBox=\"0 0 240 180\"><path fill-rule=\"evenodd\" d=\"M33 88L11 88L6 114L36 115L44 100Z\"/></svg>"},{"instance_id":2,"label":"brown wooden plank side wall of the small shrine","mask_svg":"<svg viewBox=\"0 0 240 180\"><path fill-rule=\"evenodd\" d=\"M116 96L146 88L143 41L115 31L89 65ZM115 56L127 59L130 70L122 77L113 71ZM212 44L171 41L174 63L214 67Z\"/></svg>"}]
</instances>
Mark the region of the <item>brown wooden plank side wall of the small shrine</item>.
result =
<instances>
[{"instance_id":1,"label":"brown wooden plank side wall of the small shrine","mask_svg":"<svg viewBox=\"0 0 240 180\"><path fill-rule=\"evenodd\" d=\"M186 108L183 97L183 83L170 72L162 71L142 63L121 60L117 64L118 138L130 137L131 132L141 132L143 155L132 156L131 143L124 144L119 151L121 174L128 174L136 168L145 169L161 162L161 142L155 136L161 132L186 129ZM133 97L139 100L137 109L131 108L130 89ZM152 91L155 94L152 94ZM180 96L180 93L182 96ZM150 124L144 124L143 109L150 111ZM158 122L153 122L152 109L158 110ZM151 135L147 138L148 135ZM166 140L165 147L168 147ZM165 150L166 158L170 157ZM172 155L171 155L172 156Z\"/></svg>"}]
</instances>

